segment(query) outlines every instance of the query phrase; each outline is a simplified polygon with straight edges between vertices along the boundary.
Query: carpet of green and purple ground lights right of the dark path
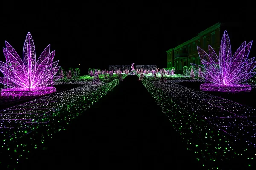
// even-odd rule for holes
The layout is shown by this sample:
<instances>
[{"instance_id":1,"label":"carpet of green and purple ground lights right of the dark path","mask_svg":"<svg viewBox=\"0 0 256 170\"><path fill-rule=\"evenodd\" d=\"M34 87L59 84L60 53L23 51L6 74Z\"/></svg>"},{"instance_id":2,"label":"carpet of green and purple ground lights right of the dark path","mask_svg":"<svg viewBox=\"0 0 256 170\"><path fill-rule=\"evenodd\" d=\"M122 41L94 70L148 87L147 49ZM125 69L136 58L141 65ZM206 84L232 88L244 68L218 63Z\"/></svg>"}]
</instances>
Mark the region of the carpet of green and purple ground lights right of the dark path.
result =
<instances>
[{"instance_id":1,"label":"carpet of green and purple ground lights right of the dark path","mask_svg":"<svg viewBox=\"0 0 256 170\"><path fill-rule=\"evenodd\" d=\"M200 83L186 78L164 82L143 79L206 169L234 169L237 162L243 164L240 169L251 168L256 156L256 112L249 97L255 90L239 94L203 92Z\"/></svg>"}]
</instances>

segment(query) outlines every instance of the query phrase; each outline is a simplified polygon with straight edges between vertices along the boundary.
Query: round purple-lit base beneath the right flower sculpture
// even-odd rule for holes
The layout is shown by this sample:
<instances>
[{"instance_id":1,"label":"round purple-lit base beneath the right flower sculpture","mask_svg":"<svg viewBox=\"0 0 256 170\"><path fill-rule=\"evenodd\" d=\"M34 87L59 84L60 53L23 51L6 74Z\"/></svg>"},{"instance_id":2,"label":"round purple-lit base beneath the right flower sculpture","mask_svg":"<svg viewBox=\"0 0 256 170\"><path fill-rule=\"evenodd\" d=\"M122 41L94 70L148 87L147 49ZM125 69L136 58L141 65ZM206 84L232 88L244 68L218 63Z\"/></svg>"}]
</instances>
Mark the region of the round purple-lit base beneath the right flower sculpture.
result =
<instances>
[{"instance_id":1,"label":"round purple-lit base beneath the right flower sculpture","mask_svg":"<svg viewBox=\"0 0 256 170\"><path fill-rule=\"evenodd\" d=\"M213 83L204 83L200 85L200 90L202 91L218 91L218 92L249 92L252 90L250 85L217 85Z\"/></svg>"}]
</instances>

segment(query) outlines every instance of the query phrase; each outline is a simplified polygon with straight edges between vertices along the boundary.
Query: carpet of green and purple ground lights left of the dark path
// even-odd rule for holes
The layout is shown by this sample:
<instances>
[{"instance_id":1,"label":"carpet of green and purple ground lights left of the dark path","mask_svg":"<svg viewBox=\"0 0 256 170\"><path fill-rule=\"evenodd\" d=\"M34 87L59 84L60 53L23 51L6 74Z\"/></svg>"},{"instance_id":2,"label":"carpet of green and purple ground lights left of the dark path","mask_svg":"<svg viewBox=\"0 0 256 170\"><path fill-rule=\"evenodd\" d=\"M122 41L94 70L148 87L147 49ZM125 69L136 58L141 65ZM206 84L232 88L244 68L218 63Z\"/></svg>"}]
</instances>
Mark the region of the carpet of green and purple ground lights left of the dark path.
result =
<instances>
[{"instance_id":1,"label":"carpet of green and purple ground lights left of the dark path","mask_svg":"<svg viewBox=\"0 0 256 170\"><path fill-rule=\"evenodd\" d=\"M0 97L0 167L15 169L19 159L61 131L119 82L56 82L57 92L36 97ZM1 168L1 169L2 169Z\"/></svg>"}]
</instances>

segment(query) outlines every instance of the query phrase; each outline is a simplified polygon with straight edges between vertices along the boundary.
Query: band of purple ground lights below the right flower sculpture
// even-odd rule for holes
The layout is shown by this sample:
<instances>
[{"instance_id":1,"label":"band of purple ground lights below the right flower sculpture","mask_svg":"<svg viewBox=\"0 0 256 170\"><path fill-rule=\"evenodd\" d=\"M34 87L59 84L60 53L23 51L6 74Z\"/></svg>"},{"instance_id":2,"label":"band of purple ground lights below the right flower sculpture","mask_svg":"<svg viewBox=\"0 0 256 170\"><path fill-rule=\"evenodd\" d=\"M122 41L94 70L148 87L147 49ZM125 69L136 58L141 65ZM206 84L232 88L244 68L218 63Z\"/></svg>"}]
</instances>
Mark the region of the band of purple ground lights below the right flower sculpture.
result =
<instances>
[{"instance_id":1,"label":"band of purple ground lights below the right flower sculpture","mask_svg":"<svg viewBox=\"0 0 256 170\"><path fill-rule=\"evenodd\" d=\"M233 136L234 139L245 141L255 148L256 136L256 109L232 100L195 91L170 80L164 85L153 82L157 88L172 93L172 97L182 108L189 113L194 112L210 125Z\"/></svg>"}]
</instances>

